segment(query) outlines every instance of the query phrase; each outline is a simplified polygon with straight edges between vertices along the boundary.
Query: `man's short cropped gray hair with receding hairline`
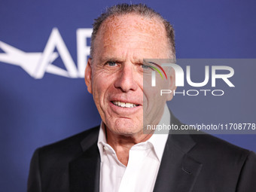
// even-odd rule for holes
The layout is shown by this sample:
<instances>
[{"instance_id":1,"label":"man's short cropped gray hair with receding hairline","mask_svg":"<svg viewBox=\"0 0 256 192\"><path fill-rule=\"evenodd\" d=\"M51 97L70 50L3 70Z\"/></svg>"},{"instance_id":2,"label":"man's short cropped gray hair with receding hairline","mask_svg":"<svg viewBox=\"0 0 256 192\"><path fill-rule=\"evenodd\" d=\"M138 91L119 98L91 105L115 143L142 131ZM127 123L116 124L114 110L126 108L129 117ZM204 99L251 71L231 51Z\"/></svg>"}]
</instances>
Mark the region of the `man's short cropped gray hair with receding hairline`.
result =
<instances>
[{"instance_id":1,"label":"man's short cropped gray hair with receding hairline","mask_svg":"<svg viewBox=\"0 0 256 192\"><path fill-rule=\"evenodd\" d=\"M93 34L91 37L91 44L90 44L90 57L93 56L93 50L94 50L94 41L96 38L96 35L99 31L100 26L102 23L108 19L108 17L111 16L121 16L125 14L138 14L142 17L148 17L148 18L156 18L161 23L163 23L167 39L169 41L169 46L171 50L171 54L169 56L172 56L172 59L175 59L175 40L174 40L174 29L172 25L163 17L158 14L156 11L154 11L151 8L148 8L147 5L137 4L137 5L128 5L128 4L119 4L114 5L111 8L107 8L105 13L101 14L96 20L94 20L93 23Z\"/></svg>"}]
</instances>

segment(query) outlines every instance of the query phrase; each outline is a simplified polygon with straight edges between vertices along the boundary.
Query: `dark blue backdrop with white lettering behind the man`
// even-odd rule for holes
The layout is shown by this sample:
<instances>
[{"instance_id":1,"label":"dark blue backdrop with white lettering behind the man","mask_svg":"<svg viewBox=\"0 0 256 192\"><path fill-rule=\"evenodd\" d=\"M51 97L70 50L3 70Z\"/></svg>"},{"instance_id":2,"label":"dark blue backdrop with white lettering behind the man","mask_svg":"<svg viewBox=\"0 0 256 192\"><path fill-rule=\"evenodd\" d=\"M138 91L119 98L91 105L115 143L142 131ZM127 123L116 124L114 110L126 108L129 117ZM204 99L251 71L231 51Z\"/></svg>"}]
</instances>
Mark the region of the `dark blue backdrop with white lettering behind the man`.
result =
<instances>
[{"instance_id":1,"label":"dark blue backdrop with white lettering behind the man","mask_svg":"<svg viewBox=\"0 0 256 192\"><path fill-rule=\"evenodd\" d=\"M120 2L146 3L169 20L175 28L178 58L256 58L253 0L2 0L0 191L26 190L35 148L99 124L92 96L81 78L90 47L88 33L106 6ZM178 97L170 103L172 111L185 123L198 117L200 122L226 117L239 122L241 117L242 123L255 123L255 71L255 65L245 65L246 81L242 77L239 81L235 73L236 85L242 90L233 90L218 101ZM256 151L256 135L218 137Z\"/></svg>"}]
</instances>

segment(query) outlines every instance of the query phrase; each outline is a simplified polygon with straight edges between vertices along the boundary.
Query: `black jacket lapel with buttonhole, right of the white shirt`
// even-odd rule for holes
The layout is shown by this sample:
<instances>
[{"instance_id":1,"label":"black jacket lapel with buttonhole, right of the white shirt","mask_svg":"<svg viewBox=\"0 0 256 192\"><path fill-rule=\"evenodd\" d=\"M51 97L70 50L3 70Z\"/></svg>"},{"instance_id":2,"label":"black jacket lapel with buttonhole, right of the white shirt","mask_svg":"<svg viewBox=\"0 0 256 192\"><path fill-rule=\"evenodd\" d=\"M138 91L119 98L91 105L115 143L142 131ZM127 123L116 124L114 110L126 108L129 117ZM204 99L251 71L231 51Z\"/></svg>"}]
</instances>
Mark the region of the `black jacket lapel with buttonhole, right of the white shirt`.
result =
<instances>
[{"instance_id":1,"label":"black jacket lapel with buttonhole, right of the white shirt","mask_svg":"<svg viewBox=\"0 0 256 192\"><path fill-rule=\"evenodd\" d=\"M181 126L181 123L173 115L172 123ZM202 167L202 163L187 154L194 145L196 143L187 134L169 135L154 185L154 192L189 192L193 189Z\"/></svg>"}]
</instances>

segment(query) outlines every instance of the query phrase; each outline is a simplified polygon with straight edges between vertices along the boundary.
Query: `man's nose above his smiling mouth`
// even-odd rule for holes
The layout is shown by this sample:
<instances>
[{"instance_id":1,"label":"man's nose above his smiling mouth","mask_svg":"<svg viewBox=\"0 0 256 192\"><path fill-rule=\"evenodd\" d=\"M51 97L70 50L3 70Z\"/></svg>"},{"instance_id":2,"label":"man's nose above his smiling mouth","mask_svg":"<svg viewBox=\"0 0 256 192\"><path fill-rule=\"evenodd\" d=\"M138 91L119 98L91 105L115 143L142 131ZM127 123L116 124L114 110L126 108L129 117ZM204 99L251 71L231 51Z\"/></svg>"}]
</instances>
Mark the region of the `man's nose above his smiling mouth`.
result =
<instances>
[{"instance_id":1,"label":"man's nose above his smiling mouth","mask_svg":"<svg viewBox=\"0 0 256 192\"><path fill-rule=\"evenodd\" d=\"M137 90L138 84L136 83L136 70L132 63L124 63L123 68L114 81L114 87L122 90L123 92L128 92L130 90Z\"/></svg>"}]
</instances>

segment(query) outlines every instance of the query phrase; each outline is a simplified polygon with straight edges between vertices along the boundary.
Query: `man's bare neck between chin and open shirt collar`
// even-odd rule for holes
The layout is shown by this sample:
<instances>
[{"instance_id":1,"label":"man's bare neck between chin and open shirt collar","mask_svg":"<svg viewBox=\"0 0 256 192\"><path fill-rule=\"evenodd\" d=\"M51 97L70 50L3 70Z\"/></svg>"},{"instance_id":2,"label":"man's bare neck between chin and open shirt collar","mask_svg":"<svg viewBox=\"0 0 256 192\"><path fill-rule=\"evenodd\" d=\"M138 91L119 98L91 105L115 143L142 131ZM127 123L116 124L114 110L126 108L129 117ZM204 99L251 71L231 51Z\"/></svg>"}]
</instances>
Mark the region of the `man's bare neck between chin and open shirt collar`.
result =
<instances>
[{"instance_id":1,"label":"man's bare neck between chin and open shirt collar","mask_svg":"<svg viewBox=\"0 0 256 192\"><path fill-rule=\"evenodd\" d=\"M111 132L107 127L105 133L108 145L111 145L117 154L118 160L125 166L128 164L130 148L132 148L133 145L136 145L137 143L147 141L152 136L152 133L143 134L143 131L142 133L124 136Z\"/></svg>"}]
</instances>

